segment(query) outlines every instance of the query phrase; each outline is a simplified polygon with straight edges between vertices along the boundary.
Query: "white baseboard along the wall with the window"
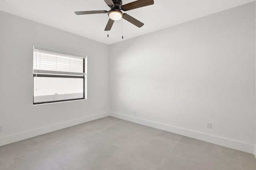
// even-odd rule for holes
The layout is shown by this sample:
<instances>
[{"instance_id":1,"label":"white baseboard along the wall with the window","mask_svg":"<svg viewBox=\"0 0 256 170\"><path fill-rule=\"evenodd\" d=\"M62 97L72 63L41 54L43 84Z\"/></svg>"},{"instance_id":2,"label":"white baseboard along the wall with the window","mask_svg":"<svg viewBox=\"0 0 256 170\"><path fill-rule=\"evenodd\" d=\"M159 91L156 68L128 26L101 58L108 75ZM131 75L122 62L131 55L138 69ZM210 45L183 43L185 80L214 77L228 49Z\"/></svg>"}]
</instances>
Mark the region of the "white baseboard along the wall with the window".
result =
<instances>
[{"instance_id":1,"label":"white baseboard along the wall with the window","mask_svg":"<svg viewBox=\"0 0 256 170\"><path fill-rule=\"evenodd\" d=\"M60 129L64 129L66 127L78 125L78 124L85 123L85 122L88 122L88 121L92 121L92 120L95 120L95 119L100 119L102 117L107 117L109 115L110 115L109 112L98 113L98 114L89 115L89 116L86 116L86 117L81 117L81 118L78 118L78 119L73 119L73 120L70 120L70 121L57 123L57 124L46 126L46 127L40 127L38 129L33 129L33 130L30 130L30 131L24 131L24 132L16 133L14 135L9 135L9 136L0 138L0 146L7 145L9 143L14 143L14 142L17 142L17 141L22 141L24 139L35 137L35 136L42 135L42 134L45 134L45 133L49 133L49 132L52 132L52 131L57 131L57 130L60 130Z\"/></svg>"}]
</instances>

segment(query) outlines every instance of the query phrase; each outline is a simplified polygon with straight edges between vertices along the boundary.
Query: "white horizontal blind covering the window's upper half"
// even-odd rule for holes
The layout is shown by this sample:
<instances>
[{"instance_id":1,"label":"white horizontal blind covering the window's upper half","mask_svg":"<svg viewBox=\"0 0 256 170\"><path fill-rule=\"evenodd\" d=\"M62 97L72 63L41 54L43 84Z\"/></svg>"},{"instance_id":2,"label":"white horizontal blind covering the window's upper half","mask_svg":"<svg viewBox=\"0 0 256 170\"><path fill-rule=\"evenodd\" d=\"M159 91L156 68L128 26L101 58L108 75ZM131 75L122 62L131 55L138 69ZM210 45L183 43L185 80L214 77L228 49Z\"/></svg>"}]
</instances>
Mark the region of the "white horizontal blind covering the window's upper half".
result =
<instances>
[{"instance_id":1,"label":"white horizontal blind covering the window's upper half","mask_svg":"<svg viewBox=\"0 0 256 170\"><path fill-rule=\"evenodd\" d=\"M85 59L72 55L34 49L35 74L85 75Z\"/></svg>"}]
</instances>

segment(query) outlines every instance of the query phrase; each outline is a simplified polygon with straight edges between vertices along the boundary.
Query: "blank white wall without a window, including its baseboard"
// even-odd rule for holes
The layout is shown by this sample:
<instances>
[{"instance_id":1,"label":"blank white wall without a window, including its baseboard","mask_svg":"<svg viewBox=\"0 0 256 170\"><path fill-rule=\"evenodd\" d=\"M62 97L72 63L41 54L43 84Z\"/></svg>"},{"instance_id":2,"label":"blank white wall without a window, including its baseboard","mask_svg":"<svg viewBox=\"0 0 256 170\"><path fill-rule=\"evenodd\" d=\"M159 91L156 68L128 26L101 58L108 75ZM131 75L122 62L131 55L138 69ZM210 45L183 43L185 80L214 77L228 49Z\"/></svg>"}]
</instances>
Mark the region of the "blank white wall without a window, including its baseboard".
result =
<instances>
[{"instance_id":1,"label":"blank white wall without a window, including its baseboard","mask_svg":"<svg viewBox=\"0 0 256 170\"><path fill-rule=\"evenodd\" d=\"M110 45L110 108L253 153L255 2Z\"/></svg>"}]
</instances>

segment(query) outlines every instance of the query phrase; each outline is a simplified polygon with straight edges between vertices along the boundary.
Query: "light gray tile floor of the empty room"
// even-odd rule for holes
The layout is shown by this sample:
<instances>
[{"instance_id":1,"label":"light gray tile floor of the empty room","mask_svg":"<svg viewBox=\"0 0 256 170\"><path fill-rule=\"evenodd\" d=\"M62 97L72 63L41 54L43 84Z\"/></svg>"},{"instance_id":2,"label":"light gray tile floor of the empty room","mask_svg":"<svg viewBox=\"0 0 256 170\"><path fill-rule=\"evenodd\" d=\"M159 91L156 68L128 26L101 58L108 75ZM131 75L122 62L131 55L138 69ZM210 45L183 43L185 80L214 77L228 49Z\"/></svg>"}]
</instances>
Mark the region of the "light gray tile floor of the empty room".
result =
<instances>
[{"instance_id":1,"label":"light gray tile floor of the empty room","mask_svg":"<svg viewBox=\"0 0 256 170\"><path fill-rule=\"evenodd\" d=\"M104 117L0 147L0 170L256 170L256 159Z\"/></svg>"}]
</instances>

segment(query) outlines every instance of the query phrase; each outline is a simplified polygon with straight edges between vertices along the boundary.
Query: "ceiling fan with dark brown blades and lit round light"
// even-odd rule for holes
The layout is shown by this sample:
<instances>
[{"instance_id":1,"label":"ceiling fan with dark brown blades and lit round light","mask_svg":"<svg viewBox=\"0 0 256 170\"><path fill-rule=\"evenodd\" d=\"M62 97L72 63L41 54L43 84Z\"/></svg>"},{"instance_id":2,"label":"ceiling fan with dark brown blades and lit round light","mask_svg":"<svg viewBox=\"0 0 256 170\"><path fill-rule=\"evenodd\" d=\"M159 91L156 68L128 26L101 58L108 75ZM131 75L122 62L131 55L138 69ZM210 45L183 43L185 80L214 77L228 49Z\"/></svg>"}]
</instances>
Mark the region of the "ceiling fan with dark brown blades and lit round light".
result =
<instances>
[{"instance_id":1,"label":"ceiling fan with dark brown blades and lit round light","mask_svg":"<svg viewBox=\"0 0 256 170\"><path fill-rule=\"evenodd\" d=\"M76 15L85 15L85 14L106 14L108 13L109 20L106 25L105 31L110 31L114 21L120 20L123 18L124 20L136 25L137 27L142 27L144 23L136 20L132 16L122 13L122 11L133 10L136 8L141 8L148 5L153 5L154 0L136 0L134 2L130 2L128 4L123 5L122 0L104 0L106 4L110 7L109 11L79 11L75 12ZM121 11L122 10L122 11Z\"/></svg>"}]
</instances>

